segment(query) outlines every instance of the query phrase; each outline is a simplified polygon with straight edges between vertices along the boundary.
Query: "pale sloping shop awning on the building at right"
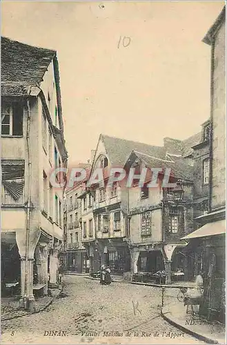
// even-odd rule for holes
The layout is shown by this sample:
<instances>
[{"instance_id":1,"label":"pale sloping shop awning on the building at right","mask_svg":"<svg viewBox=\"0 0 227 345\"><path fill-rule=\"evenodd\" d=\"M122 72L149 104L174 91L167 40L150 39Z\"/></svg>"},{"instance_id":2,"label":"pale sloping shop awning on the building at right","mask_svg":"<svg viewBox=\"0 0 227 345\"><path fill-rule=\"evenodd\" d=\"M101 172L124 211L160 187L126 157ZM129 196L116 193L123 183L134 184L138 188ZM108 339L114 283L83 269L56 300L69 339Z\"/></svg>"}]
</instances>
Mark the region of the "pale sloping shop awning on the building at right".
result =
<instances>
[{"instance_id":1,"label":"pale sloping shop awning on the building at right","mask_svg":"<svg viewBox=\"0 0 227 345\"><path fill-rule=\"evenodd\" d=\"M198 230L195 230L193 233L188 234L181 239L193 239L198 237L208 237L214 235L221 235L226 233L226 220L213 221L207 223L204 226L201 226Z\"/></svg>"}]
</instances>

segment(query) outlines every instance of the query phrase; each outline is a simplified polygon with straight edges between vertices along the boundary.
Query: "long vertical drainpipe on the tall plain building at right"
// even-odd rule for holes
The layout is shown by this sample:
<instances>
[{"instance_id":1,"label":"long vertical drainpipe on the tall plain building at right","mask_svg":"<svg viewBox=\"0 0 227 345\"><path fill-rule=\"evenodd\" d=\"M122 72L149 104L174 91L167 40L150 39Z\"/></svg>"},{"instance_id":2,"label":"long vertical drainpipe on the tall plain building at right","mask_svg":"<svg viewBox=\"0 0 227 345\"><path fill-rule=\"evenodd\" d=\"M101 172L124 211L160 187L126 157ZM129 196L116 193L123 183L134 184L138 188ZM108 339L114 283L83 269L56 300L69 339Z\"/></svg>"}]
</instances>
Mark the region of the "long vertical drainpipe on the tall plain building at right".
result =
<instances>
[{"instance_id":1,"label":"long vertical drainpipe on the tall plain building at right","mask_svg":"<svg viewBox=\"0 0 227 345\"><path fill-rule=\"evenodd\" d=\"M213 107L214 107L214 61L215 61L215 41L212 39L211 41L211 61L210 61L210 142L209 142L209 150L210 150L210 161L209 161L209 203L208 208L209 212L211 212L211 205L212 205L212 184L213 184Z\"/></svg>"}]
</instances>

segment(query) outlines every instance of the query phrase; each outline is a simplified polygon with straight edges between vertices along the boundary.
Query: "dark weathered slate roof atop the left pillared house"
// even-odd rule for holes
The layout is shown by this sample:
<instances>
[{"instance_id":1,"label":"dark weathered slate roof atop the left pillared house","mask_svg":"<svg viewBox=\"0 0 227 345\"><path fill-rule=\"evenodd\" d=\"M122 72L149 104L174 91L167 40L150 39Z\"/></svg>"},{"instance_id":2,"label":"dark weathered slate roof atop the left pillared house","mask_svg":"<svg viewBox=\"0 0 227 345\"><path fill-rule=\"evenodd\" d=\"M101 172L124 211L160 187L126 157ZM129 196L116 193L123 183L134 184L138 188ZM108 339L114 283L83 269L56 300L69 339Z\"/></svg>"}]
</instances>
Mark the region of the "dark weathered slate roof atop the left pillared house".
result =
<instances>
[{"instance_id":1,"label":"dark weathered slate roof atop the left pillared house","mask_svg":"<svg viewBox=\"0 0 227 345\"><path fill-rule=\"evenodd\" d=\"M29 85L39 84L55 56L55 50L1 37L2 95L23 95Z\"/></svg>"}]
</instances>

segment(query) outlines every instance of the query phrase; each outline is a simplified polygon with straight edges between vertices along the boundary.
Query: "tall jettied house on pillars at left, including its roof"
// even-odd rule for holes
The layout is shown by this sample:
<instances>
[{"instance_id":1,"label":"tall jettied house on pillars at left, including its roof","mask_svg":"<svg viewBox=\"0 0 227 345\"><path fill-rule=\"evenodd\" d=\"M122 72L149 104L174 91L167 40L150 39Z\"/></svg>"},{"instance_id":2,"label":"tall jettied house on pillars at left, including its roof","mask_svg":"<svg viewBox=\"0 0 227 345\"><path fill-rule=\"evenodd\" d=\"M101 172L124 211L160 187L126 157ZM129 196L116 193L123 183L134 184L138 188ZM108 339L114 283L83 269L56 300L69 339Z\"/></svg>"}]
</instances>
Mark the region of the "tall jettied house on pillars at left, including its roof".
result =
<instances>
[{"instance_id":1,"label":"tall jettied house on pillars at left, including its roof","mask_svg":"<svg viewBox=\"0 0 227 345\"><path fill-rule=\"evenodd\" d=\"M67 164L57 52L2 37L1 67L1 272L33 311L34 290L57 284L63 234L49 179Z\"/></svg>"}]
</instances>

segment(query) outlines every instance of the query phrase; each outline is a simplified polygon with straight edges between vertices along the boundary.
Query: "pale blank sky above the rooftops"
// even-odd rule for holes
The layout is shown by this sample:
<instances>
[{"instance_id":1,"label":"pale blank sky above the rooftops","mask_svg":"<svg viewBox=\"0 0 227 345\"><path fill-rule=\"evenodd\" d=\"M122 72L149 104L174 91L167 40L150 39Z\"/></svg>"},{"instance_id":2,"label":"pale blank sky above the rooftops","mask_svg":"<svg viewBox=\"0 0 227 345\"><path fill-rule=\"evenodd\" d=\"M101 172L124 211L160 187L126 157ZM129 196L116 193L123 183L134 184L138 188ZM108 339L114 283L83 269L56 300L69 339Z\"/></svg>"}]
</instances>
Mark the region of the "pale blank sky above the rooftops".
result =
<instances>
[{"instance_id":1,"label":"pale blank sky above the rooftops","mask_svg":"<svg viewBox=\"0 0 227 345\"><path fill-rule=\"evenodd\" d=\"M3 2L2 34L57 50L66 146L84 161L100 133L162 145L210 115L210 2ZM120 37L130 37L119 43Z\"/></svg>"}]
</instances>

